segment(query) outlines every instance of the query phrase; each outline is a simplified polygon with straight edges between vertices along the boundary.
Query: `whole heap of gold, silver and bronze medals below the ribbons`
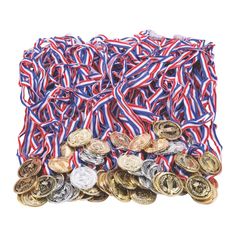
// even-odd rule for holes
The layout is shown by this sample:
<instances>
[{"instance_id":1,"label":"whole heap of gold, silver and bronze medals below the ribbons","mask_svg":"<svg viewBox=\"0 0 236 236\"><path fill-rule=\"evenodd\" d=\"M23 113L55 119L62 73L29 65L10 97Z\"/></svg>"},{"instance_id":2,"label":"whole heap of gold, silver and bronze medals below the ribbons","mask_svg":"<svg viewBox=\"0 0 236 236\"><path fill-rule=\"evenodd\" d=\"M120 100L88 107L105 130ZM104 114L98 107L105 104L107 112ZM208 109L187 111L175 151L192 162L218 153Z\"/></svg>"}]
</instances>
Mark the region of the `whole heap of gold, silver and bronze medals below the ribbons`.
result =
<instances>
[{"instance_id":1,"label":"whole heap of gold, silver and bronze medals below the ribbons","mask_svg":"<svg viewBox=\"0 0 236 236\"><path fill-rule=\"evenodd\" d=\"M172 121L153 124L158 139L152 140L144 133L130 140L119 132L110 134L111 145L92 137L88 129L72 132L66 143L61 145L61 157L51 158L48 166L52 175L42 174L43 163L39 158L25 161L18 171L20 179L14 190L24 205L37 207L46 202L88 200L101 202L109 196L128 202L151 204L158 194L167 196L188 193L193 200L211 203L217 196L216 183L207 177L221 171L221 163L216 156L205 152L198 159L184 152L181 142L181 128ZM82 147L79 158L83 162L78 168L70 166L70 158ZM123 150L115 168L105 171L101 168L111 148ZM143 158L139 152L153 154L155 158ZM174 166L185 171L188 178L166 172L158 163L158 155L175 154ZM91 168L95 166L95 168Z\"/></svg>"}]
</instances>

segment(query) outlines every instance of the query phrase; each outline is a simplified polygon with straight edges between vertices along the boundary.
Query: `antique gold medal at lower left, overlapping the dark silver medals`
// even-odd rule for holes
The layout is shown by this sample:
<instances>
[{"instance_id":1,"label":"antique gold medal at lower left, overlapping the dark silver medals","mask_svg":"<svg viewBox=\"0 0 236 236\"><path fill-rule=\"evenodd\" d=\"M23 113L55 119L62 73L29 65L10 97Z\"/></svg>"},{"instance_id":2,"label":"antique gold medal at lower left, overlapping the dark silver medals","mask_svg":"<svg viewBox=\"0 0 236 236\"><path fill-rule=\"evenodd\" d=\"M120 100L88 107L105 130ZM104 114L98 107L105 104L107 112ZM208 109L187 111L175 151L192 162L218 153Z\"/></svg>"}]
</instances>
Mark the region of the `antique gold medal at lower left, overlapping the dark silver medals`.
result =
<instances>
[{"instance_id":1,"label":"antique gold medal at lower left, overlapping the dark silver medals","mask_svg":"<svg viewBox=\"0 0 236 236\"><path fill-rule=\"evenodd\" d=\"M35 198L47 197L57 185L57 181L50 175L42 175L38 178L37 184L32 191Z\"/></svg>"}]
</instances>

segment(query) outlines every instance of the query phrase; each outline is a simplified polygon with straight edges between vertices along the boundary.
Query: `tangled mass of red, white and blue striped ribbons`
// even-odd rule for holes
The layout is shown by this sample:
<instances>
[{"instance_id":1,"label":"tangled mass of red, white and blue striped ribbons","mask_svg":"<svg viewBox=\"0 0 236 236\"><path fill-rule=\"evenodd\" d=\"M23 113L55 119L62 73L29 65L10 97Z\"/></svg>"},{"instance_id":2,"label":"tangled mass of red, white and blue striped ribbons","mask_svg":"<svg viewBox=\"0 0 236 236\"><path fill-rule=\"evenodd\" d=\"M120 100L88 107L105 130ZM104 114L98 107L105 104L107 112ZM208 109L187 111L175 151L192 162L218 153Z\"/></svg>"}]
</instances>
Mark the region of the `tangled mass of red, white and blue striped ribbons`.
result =
<instances>
[{"instance_id":1,"label":"tangled mass of red, white and blue striped ribbons","mask_svg":"<svg viewBox=\"0 0 236 236\"><path fill-rule=\"evenodd\" d=\"M147 132L154 139L152 124L159 120L181 126L186 153L197 158L210 151L220 159L213 47L152 31L123 39L98 35L87 43L72 36L39 39L20 63L20 98L26 108L18 138L20 163L38 157L50 174L48 161L61 155L60 145L78 128L108 143L113 131L131 139ZM104 170L116 167L122 154L111 148ZM145 159L148 154L137 155ZM170 171L173 156L154 158ZM81 163L78 149L70 165Z\"/></svg>"}]
</instances>

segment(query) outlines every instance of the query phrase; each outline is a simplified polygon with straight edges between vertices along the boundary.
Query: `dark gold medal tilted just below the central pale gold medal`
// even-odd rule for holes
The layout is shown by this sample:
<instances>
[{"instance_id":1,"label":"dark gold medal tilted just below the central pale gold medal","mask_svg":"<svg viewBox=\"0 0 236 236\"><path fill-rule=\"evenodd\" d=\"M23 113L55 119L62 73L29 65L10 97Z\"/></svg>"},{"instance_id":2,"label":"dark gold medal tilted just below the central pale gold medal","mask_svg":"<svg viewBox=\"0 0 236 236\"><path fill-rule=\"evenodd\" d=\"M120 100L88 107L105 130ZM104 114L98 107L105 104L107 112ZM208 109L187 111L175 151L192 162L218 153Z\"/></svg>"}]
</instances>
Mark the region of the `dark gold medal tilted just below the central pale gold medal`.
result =
<instances>
[{"instance_id":1,"label":"dark gold medal tilted just below the central pale gold medal","mask_svg":"<svg viewBox=\"0 0 236 236\"><path fill-rule=\"evenodd\" d=\"M120 184L126 189L133 190L137 187L136 184L133 184L133 182L131 182L131 175L124 170L117 169L114 174L114 179L117 184Z\"/></svg>"}]
</instances>

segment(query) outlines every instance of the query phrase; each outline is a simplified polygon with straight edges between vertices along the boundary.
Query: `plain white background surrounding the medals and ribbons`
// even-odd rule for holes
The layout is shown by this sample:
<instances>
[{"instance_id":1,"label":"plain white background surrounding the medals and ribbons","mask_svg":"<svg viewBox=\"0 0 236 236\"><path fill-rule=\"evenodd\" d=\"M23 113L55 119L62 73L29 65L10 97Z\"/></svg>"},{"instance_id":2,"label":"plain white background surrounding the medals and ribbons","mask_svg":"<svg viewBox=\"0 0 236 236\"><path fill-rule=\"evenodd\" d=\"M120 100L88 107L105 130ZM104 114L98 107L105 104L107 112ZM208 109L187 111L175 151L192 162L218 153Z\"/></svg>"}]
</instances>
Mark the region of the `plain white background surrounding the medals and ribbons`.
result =
<instances>
[{"instance_id":1,"label":"plain white background surrounding the medals and ribbons","mask_svg":"<svg viewBox=\"0 0 236 236\"><path fill-rule=\"evenodd\" d=\"M233 0L26 1L0 3L0 235L235 235L235 94L236 29ZM24 49L39 37L79 35L86 41L102 33L132 36L152 29L213 41L219 78L218 136L224 146L219 196L200 205L189 196L158 196L142 206L108 199L103 203L20 205L13 193L17 180L17 135L23 125L18 64Z\"/></svg>"}]
</instances>

